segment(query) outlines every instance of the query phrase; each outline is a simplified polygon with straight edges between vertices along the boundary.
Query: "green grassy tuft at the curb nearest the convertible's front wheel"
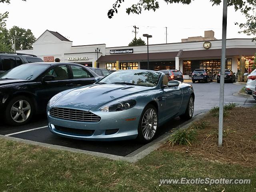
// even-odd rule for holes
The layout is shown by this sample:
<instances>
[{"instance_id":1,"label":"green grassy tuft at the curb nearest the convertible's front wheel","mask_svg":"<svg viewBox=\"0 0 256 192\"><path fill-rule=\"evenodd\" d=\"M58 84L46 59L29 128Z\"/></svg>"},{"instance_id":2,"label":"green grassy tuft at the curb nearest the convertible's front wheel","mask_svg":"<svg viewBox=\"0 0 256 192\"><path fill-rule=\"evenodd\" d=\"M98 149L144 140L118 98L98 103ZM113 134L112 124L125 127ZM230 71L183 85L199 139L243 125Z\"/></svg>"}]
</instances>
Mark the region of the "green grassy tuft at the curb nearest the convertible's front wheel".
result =
<instances>
[{"instance_id":1,"label":"green grassy tuft at the curb nearest the convertible's front wheel","mask_svg":"<svg viewBox=\"0 0 256 192\"><path fill-rule=\"evenodd\" d=\"M196 140L196 130L192 128L177 130L168 138L169 145L191 145Z\"/></svg>"}]
</instances>

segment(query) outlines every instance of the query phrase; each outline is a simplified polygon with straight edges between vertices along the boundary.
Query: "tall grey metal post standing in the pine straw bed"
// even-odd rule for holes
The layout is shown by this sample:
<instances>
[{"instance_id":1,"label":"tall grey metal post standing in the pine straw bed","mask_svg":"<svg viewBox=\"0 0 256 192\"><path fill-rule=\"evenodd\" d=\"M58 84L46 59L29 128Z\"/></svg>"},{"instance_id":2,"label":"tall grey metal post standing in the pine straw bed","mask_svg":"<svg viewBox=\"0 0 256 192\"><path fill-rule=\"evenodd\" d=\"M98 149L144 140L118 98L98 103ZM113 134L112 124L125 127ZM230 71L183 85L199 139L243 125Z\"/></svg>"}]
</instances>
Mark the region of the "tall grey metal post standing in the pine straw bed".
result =
<instances>
[{"instance_id":1,"label":"tall grey metal post standing in the pine straw bed","mask_svg":"<svg viewBox=\"0 0 256 192\"><path fill-rule=\"evenodd\" d=\"M224 75L226 63L226 36L227 36L227 0L223 0L223 18L222 18L222 49L221 49L221 71L220 71L220 111L219 111L219 133L218 146L222 146L223 133L223 108L224 108Z\"/></svg>"}]
</instances>

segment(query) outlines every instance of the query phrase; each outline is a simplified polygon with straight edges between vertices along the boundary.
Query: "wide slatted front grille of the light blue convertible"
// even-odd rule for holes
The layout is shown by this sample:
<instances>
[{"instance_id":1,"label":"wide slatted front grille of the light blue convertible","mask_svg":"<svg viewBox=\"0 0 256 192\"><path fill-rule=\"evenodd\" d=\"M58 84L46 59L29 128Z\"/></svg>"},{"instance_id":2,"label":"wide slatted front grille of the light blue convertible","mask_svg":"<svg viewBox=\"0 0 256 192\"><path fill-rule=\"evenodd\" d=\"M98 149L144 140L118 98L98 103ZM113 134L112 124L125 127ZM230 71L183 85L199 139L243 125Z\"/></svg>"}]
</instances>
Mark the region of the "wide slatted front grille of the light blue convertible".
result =
<instances>
[{"instance_id":1,"label":"wide slatted front grille of the light blue convertible","mask_svg":"<svg viewBox=\"0 0 256 192\"><path fill-rule=\"evenodd\" d=\"M86 122L100 121L100 117L91 112L75 110L75 109L67 109L67 108L51 108L50 116L61 118L61 119L75 120L75 121L86 121Z\"/></svg>"}]
</instances>

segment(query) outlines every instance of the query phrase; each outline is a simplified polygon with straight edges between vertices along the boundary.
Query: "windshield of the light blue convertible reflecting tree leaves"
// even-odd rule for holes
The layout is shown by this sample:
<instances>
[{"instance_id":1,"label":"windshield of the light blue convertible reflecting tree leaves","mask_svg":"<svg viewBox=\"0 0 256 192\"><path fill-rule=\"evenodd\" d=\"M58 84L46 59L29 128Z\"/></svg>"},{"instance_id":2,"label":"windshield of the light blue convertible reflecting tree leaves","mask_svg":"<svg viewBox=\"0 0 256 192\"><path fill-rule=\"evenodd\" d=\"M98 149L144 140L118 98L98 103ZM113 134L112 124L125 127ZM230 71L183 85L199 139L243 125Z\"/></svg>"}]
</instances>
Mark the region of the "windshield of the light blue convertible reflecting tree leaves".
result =
<instances>
[{"instance_id":1,"label":"windshield of the light blue convertible reflecting tree leaves","mask_svg":"<svg viewBox=\"0 0 256 192\"><path fill-rule=\"evenodd\" d=\"M106 78L100 80L101 84L127 84L137 86L153 87L158 84L162 73L140 71L140 70L125 70L112 73Z\"/></svg>"}]
</instances>

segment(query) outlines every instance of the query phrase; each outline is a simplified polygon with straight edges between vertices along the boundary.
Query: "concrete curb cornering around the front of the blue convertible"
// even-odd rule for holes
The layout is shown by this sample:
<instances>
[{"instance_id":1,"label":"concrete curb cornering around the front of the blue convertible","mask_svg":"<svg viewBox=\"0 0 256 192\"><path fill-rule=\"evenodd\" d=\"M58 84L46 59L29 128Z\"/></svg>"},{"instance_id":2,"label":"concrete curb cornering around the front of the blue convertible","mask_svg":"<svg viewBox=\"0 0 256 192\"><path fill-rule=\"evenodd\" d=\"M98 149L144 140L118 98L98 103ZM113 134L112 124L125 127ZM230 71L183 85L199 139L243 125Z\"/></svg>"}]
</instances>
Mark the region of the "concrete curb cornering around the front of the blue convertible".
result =
<instances>
[{"instance_id":1,"label":"concrete curb cornering around the front of the blue convertible","mask_svg":"<svg viewBox=\"0 0 256 192\"><path fill-rule=\"evenodd\" d=\"M180 126L177 126L173 130L178 130L178 129L186 129L188 128L193 122L198 121L202 119L204 116L206 116L207 112L203 112L201 114L196 115L193 117L189 123L181 124ZM185 125L184 125L185 124ZM15 137L10 137L10 136L4 136L0 135L0 139L6 139L6 140L12 140L16 142L23 142L26 144L32 144L32 145L38 145L42 147L46 147L49 149L55 149L55 150L66 150L70 152L78 152L78 153L83 153L83 154L88 154L92 156L98 156L98 157L103 157L103 158L109 158L111 160L123 160L127 162L132 162L135 163L138 160L144 158L148 154L150 154L152 151L156 150L159 148L164 142L166 142L167 138L170 136L170 134L173 134L174 132L170 133L165 133L162 136L156 138L152 142L142 146L141 148L135 150L134 152L128 154L127 156L117 156L117 155L112 155L112 154L105 154L105 153L100 153L100 152L93 152L93 151L86 151L86 150L80 150L80 149L75 149L75 148L69 148L69 147L64 147L64 146L58 146L58 145L53 145L53 144L47 144L47 143L41 143L41 142L36 142L36 141L30 141L30 140L25 140L25 139L20 139L20 138L15 138Z\"/></svg>"}]
</instances>

